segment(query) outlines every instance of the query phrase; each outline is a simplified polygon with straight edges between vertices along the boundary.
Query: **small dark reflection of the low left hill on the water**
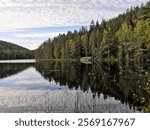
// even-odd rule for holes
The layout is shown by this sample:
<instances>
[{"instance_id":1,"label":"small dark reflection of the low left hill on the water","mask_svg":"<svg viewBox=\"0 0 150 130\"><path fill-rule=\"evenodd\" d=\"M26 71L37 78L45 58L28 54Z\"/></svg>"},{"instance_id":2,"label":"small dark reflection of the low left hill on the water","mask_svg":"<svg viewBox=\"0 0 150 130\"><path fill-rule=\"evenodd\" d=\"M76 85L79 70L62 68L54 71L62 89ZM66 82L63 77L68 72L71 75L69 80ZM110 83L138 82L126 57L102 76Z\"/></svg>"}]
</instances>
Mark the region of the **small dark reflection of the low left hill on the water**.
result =
<instances>
[{"instance_id":1,"label":"small dark reflection of the low left hill on the water","mask_svg":"<svg viewBox=\"0 0 150 130\"><path fill-rule=\"evenodd\" d=\"M0 64L0 79L17 74L28 67L33 66L32 63L1 63Z\"/></svg>"}]
</instances>

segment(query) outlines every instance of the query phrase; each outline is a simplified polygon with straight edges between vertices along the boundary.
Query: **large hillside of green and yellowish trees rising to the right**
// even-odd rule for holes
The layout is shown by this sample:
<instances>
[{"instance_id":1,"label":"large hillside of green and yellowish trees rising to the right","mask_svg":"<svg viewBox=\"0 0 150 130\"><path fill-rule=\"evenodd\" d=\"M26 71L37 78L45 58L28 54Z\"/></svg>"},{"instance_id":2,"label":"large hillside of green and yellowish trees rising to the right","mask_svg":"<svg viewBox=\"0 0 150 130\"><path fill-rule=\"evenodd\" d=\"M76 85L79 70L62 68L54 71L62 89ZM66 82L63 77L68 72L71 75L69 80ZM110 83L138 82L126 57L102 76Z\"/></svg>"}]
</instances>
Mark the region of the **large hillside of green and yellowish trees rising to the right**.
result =
<instances>
[{"instance_id":1,"label":"large hillside of green and yellowish trees rising to the right","mask_svg":"<svg viewBox=\"0 0 150 130\"><path fill-rule=\"evenodd\" d=\"M128 9L101 24L92 20L90 29L68 32L48 39L36 51L36 59L150 60L150 2Z\"/></svg>"}]
</instances>

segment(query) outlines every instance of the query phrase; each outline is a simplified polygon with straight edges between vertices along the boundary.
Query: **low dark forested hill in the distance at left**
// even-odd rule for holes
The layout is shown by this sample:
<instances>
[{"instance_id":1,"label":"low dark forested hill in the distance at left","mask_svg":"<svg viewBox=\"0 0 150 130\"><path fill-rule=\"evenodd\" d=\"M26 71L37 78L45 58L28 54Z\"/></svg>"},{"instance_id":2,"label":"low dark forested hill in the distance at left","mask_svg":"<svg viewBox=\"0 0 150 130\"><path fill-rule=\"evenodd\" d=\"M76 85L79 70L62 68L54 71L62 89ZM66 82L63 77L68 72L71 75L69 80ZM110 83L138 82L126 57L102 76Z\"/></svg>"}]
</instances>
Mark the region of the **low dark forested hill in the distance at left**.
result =
<instances>
[{"instance_id":1,"label":"low dark forested hill in the distance at left","mask_svg":"<svg viewBox=\"0 0 150 130\"><path fill-rule=\"evenodd\" d=\"M0 41L0 60L33 59L34 52L13 43Z\"/></svg>"}]
</instances>

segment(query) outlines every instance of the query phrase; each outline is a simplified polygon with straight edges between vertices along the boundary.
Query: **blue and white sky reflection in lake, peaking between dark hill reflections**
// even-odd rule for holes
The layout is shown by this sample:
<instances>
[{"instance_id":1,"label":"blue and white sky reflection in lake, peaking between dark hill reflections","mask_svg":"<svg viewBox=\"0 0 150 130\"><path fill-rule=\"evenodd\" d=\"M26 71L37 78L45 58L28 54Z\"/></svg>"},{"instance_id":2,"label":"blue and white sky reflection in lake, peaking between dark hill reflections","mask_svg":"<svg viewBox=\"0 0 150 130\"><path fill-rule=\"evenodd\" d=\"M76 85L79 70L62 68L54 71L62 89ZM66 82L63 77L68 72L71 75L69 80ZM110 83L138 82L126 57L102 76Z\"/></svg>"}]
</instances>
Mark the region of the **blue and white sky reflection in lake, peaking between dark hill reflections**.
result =
<instances>
[{"instance_id":1,"label":"blue and white sky reflection in lake, peaking between dark hill reflections","mask_svg":"<svg viewBox=\"0 0 150 130\"><path fill-rule=\"evenodd\" d=\"M45 80L33 67L30 67L19 74L0 79L0 88L19 89L65 89L65 86L57 85L54 81Z\"/></svg>"}]
</instances>

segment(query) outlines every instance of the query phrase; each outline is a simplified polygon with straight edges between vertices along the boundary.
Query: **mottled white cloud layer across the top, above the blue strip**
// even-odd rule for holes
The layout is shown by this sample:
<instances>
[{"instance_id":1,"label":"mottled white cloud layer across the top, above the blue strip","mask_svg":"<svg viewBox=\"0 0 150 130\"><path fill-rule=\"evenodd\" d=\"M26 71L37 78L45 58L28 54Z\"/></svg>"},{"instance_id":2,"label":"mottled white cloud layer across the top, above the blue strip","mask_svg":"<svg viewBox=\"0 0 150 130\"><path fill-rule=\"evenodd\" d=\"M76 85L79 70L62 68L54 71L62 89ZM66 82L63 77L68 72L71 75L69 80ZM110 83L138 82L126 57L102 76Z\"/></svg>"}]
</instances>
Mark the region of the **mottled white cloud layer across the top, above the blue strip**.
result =
<instances>
[{"instance_id":1,"label":"mottled white cloud layer across the top, above the blue strip","mask_svg":"<svg viewBox=\"0 0 150 130\"><path fill-rule=\"evenodd\" d=\"M64 26L112 18L147 0L1 0L0 27Z\"/></svg>"}]
</instances>

